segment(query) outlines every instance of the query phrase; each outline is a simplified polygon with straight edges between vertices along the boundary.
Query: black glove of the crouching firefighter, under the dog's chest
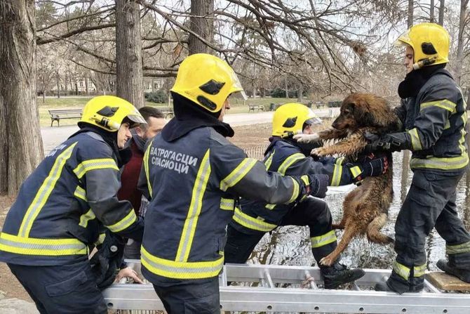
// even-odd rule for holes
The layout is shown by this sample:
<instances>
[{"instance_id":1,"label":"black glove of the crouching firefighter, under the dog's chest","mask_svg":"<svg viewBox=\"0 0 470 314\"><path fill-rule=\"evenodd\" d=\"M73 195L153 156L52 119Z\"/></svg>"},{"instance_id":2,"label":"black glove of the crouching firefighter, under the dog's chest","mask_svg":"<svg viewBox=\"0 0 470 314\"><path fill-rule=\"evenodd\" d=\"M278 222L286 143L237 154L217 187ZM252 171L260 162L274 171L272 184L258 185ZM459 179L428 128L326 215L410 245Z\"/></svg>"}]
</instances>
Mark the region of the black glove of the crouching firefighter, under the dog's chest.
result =
<instances>
[{"instance_id":1,"label":"black glove of the crouching firefighter, under the dog's chest","mask_svg":"<svg viewBox=\"0 0 470 314\"><path fill-rule=\"evenodd\" d=\"M386 155L369 154L360 158L360 162L348 163L349 171L351 171L353 182L367 178L368 176L380 176L389 169L389 160Z\"/></svg>"}]
</instances>

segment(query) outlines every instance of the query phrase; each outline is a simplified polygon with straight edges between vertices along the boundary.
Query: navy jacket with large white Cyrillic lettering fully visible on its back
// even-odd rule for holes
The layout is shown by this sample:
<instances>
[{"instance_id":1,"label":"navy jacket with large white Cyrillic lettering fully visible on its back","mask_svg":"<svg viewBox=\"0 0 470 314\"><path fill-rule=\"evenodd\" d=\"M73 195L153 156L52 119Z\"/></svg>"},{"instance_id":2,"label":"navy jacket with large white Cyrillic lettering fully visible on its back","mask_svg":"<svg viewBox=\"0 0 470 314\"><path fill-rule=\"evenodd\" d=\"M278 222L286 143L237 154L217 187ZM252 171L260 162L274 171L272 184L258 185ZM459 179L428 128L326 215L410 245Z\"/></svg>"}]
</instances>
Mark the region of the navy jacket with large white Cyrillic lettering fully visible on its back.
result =
<instances>
[{"instance_id":1,"label":"navy jacket with large white Cyrillic lettering fully visible on its back","mask_svg":"<svg viewBox=\"0 0 470 314\"><path fill-rule=\"evenodd\" d=\"M297 178L267 172L212 127L172 142L157 135L145 152L142 174L151 195L142 272L154 284L220 273L225 228L238 196L290 203L304 189Z\"/></svg>"}]
</instances>

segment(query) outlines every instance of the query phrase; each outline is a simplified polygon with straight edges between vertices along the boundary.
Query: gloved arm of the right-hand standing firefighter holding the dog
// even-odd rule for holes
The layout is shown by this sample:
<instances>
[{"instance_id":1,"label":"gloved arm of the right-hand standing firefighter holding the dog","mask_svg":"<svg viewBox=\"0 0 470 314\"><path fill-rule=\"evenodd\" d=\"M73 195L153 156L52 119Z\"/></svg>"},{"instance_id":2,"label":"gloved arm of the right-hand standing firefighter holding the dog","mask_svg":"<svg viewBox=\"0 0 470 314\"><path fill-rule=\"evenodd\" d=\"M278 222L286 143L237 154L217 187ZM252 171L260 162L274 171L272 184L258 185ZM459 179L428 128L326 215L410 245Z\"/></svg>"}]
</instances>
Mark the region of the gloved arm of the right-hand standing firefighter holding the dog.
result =
<instances>
[{"instance_id":1,"label":"gloved arm of the right-hand standing firefighter holding the dog","mask_svg":"<svg viewBox=\"0 0 470 314\"><path fill-rule=\"evenodd\" d=\"M427 150L441 137L445 124L455 111L455 102L445 98L450 95L448 86L436 86L421 100L419 115L413 128L405 132L389 133L382 136L368 133L370 141L364 152L399 150Z\"/></svg>"}]
</instances>

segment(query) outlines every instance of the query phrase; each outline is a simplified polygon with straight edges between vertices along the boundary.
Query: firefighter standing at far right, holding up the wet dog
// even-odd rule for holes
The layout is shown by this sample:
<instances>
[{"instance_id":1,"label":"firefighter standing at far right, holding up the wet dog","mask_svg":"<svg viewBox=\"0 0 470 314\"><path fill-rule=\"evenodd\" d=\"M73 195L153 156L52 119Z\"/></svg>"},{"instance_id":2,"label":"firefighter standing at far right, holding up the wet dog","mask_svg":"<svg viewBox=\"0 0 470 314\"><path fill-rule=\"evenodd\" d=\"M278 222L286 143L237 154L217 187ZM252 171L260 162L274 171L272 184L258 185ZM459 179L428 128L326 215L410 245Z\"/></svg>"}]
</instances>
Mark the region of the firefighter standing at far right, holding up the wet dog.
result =
<instances>
[{"instance_id":1,"label":"firefighter standing at far right, holding up the wet dog","mask_svg":"<svg viewBox=\"0 0 470 314\"><path fill-rule=\"evenodd\" d=\"M380 291L419 292L424 287L424 243L433 228L446 242L448 261L437 266L470 282L470 235L457 216L456 187L469 163L465 143L466 104L447 70L450 37L434 23L411 27L398 37L408 74L398 86L396 114L403 131L371 135L367 150L411 150L414 172L395 224L396 261Z\"/></svg>"}]
</instances>

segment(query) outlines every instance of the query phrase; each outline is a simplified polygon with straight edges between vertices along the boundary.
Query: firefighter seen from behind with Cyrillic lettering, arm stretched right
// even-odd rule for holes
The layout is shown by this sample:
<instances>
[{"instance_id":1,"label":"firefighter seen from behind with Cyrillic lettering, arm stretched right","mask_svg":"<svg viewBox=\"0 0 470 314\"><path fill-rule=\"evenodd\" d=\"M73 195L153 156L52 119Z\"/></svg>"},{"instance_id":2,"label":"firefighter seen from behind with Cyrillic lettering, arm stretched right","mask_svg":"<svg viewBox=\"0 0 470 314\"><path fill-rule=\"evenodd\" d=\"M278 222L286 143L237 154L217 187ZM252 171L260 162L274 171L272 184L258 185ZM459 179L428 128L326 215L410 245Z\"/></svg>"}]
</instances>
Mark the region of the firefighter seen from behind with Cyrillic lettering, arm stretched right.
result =
<instances>
[{"instance_id":1,"label":"firefighter seen from behind with Cyrillic lettering, arm stretched right","mask_svg":"<svg viewBox=\"0 0 470 314\"><path fill-rule=\"evenodd\" d=\"M184 59L171 92L175 118L149 144L142 168L151 197L142 275L168 313L220 314L218 275L238 197L270 204L325 197L327 176L269 173L226 139L234 135L222 122L228 97L243 89L220 58Z\"/></svg>"}]
</instances>

